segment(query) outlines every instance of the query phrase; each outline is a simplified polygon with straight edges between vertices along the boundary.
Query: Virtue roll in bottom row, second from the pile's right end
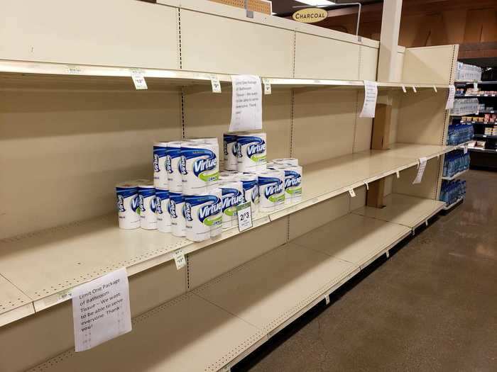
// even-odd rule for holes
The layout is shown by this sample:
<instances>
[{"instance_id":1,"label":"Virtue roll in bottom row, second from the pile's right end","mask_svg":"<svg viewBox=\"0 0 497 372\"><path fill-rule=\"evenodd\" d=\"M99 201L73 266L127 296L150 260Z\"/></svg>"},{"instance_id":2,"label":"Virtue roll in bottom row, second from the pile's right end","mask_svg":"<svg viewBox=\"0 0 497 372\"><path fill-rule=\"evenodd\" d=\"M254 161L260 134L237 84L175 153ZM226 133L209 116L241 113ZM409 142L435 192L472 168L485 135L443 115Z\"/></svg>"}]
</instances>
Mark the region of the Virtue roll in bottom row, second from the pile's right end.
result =
<instances>
[{"instance_id":1,"label":"Virtue roll in bottom row, second from the pile's right end","mask_svg":"<svg viewBox=\"0 0 497 372\"><path fill-rule=\"evenodd\" d=\"M285 203L285 171L267 170L258 174L259 210L269 213Z\"/></svg>"}]
</instances>

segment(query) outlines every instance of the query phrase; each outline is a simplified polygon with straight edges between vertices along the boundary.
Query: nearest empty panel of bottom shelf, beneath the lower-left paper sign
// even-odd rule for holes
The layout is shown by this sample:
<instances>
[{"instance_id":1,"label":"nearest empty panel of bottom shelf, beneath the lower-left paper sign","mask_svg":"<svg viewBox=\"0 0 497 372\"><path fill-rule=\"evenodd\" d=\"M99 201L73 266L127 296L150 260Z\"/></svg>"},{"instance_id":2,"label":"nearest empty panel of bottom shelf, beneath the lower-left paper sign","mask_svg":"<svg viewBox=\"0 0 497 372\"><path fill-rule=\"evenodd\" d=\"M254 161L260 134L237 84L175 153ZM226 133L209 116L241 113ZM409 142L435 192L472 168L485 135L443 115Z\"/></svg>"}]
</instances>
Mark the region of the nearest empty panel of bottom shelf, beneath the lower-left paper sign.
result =
<instances>
[{"instance_id":1,"label":"nearest empty panel of bottom shelf, beneath the lower-left paper sign","mask_svg":"<svg viewBox=\"0 0 497 372\"><path fill-rule=\"evenodd\" d=\"M218 371L264 334L187 293L133 319L133 330L88 351L66 351L32 371Z\"/></svg>"}]
</instances>

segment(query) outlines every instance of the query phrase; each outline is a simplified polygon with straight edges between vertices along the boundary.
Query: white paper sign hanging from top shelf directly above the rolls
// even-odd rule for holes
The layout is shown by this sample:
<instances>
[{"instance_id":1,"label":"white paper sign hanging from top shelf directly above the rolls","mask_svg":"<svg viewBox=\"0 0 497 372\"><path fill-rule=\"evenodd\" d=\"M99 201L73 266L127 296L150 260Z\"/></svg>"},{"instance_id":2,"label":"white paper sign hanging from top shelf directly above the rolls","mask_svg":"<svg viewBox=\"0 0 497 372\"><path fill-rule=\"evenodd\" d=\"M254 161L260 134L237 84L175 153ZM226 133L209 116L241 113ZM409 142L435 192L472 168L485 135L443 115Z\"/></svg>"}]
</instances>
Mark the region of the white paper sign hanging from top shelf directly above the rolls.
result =
<instances>
[{"instance_id":1,"label":"white paper sign hanging from top shelf directly above the rolls","mask_svg":"<svg viewBox=\"0 0 497 372\"><path fill-rule=\"evenodd\" d=\"M254 75L231 75L230 132L262 129L261 78Z\"/></svg>"}]
</instances>

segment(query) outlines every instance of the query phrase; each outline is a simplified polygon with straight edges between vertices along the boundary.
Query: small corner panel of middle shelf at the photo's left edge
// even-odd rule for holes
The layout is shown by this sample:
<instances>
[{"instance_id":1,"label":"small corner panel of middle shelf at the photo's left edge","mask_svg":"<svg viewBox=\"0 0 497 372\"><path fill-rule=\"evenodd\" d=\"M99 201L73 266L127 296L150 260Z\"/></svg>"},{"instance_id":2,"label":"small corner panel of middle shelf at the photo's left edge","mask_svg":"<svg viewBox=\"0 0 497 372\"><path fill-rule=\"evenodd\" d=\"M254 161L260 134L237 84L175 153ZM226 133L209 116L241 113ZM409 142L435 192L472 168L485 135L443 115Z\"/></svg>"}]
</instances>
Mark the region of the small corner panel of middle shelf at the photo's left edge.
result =
<instances>
[{"instance_id":1,"label":"small corner panel of middle shelf at the photo's left edge","mask_svg":"<svg viewBox=\"0 0 497 372\"><path fill-rule=\"evenodd\" d=\"M31 299L0 275L0 327L34 312Z\"/></svg>"}]
</instances>

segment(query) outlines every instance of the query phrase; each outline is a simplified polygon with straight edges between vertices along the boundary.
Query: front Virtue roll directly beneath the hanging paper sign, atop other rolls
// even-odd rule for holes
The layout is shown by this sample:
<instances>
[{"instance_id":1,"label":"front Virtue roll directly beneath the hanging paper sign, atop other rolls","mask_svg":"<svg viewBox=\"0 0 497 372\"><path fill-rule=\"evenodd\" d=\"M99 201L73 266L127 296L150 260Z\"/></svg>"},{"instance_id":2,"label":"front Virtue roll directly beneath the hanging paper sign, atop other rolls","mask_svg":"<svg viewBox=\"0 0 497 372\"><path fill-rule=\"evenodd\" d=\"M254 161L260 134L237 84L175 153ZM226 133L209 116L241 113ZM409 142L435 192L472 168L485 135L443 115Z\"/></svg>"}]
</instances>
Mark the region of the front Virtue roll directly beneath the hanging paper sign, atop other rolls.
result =
<instances>
[{"instance_id":1,"label":"front Virtue roll directly beneath the hanging paper sign, atop other rolls","mask_svg":"<svg viewBox=\"0 0 497 372\"><path fill-rule=\"evenodd\" d=\"M266 133L240 134L236 140L238 171L266 169Z\"/></svg>"}]
</instances>

